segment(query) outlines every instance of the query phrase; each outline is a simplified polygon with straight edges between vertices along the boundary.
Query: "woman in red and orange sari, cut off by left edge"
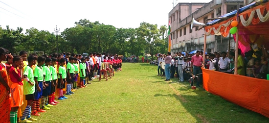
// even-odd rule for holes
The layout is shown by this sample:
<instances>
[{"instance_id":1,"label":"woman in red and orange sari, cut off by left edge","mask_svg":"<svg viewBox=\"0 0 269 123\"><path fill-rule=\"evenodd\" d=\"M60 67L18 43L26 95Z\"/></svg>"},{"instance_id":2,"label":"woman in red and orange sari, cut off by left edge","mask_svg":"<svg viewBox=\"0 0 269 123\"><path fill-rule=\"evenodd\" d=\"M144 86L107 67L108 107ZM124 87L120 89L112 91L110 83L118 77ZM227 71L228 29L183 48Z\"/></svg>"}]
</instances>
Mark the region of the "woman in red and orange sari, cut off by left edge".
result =
<instances>
[{"instance_id":1,"label":"woman in red and orange sari, cut off by left edge","mask_svg":"<svg viewBox=\"0 0 269 123\"><path fill-rule=\"evenodd\" d=\"M2 63L7 57L7 49L0 48L0 123L10 123L10 88L6 66Z\"/></svg>"}]
</instances>

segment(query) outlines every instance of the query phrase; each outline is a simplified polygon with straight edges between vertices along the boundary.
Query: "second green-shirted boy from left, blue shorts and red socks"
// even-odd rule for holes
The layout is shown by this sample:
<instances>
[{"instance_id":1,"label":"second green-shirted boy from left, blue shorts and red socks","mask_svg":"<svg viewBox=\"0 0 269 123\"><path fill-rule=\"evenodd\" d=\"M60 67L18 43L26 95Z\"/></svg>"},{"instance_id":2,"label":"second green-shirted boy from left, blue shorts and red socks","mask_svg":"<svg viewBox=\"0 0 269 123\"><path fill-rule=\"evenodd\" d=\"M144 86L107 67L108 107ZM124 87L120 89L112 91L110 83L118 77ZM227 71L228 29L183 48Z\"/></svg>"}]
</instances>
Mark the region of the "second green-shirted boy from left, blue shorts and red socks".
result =
<instances>
[{"instance_id":1,"label":"second green-shirted boy from left, blue shorts and red socks","mask_svg":"<svg viewBox=\"0 0 269 123\"><path fill-rule=\"evenodd\" d=\"M39 99L42 97L42 91L45 89L45 79L44 79L44 73L43 73L43 67L42 65L45 63L45 57L39 56L37 58L37 67L34 70L34 78L36 82L35 86L35 98L32 105L32 115L34 116L40 116L37 112L46 112L43 109L40 109L40 102Z\"/></svg>"}]
</instances>

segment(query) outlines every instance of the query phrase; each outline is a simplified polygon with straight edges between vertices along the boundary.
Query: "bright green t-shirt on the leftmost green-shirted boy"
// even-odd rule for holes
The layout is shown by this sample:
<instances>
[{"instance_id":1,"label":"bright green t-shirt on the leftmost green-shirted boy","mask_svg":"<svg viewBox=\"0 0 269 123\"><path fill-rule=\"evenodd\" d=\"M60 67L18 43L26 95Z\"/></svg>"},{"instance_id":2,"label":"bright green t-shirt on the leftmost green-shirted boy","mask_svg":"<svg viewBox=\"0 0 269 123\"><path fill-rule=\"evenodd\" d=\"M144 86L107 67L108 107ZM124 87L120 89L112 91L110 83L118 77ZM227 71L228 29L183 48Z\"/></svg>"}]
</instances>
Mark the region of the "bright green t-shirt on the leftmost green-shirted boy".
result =
<instances>
[{"instance_id":1,"label":"bright green t-shirt on the leftmost green-shirted boy","mask_svg":"<svg viewBox=\"0 0 269 123\"><path fill-rule=\"evenodd\" d=\"M23 95L30 95L35 93L35 78L34 78L34 71L30 66L26 66L23 72L23 75L26 75L30 82L34 85L28 83L28 81L23 80Z\"/></svg>"}]
</instances>

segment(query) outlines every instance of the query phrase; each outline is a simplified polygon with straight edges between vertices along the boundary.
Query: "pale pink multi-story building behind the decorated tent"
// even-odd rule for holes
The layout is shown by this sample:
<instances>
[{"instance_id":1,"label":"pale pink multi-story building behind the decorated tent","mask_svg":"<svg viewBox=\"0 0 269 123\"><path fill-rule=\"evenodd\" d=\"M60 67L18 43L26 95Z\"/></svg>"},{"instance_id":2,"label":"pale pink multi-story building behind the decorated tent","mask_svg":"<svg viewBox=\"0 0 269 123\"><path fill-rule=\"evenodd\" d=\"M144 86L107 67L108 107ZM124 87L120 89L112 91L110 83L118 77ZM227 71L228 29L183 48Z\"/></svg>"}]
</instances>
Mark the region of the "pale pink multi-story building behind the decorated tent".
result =
<instances>
[{"instance_id":1,"label":"pale pink multi-story building behind the decorated tent","mask_svg":"<svg viewBox=\"0 0 269 123\"><path fill-rule=\"evenodd\" d=\"M245 1L247 4L249 1ZM237 9L237 3L243 7L244 0L212 0L208 3L178 3L169 13L171 23L171 53L196 49L203 49L204 30L199 27L191 28L194 18L199 23L208 23L206 19L216 18ZM246 4L245 3L245 4ZM231 37L230 49L235 43ZM209 35L206 36L206 52L226 51L229 37Z\"/></svg>"}]
</instances>

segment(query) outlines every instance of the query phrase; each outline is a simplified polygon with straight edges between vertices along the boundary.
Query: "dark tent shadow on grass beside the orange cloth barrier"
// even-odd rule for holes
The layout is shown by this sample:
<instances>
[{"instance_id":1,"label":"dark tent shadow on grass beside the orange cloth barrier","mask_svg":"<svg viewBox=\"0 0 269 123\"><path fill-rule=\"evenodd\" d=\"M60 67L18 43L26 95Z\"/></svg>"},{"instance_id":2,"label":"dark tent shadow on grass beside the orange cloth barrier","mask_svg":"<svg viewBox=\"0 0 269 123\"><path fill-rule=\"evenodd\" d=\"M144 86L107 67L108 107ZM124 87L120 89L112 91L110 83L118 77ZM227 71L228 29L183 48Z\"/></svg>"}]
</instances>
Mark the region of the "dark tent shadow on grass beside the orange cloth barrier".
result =
<instances>
[{"instance_id":1,"label":"dark tent shadow on grass beside the orange cloth barrier","mask_svg":"<svg viewBox=\"0 0 269 123\"><path fill-rule=\"evenodd\" d=\"M180 83L183 85L180 87L171 84L178 91L176 94L156 94L154 97L176 98L198 123L269 123L269 119L261 114L210 94L202 88L192 90L188 84Z\"/></svg>"}]
</instances>

